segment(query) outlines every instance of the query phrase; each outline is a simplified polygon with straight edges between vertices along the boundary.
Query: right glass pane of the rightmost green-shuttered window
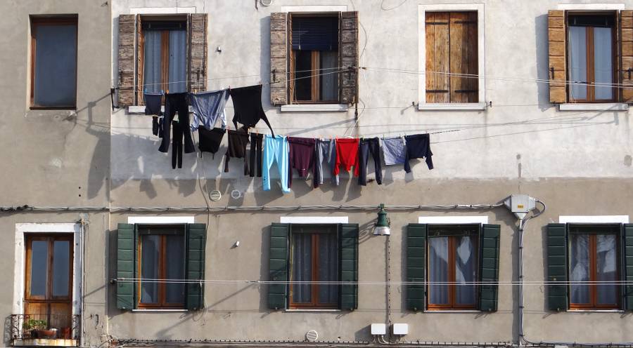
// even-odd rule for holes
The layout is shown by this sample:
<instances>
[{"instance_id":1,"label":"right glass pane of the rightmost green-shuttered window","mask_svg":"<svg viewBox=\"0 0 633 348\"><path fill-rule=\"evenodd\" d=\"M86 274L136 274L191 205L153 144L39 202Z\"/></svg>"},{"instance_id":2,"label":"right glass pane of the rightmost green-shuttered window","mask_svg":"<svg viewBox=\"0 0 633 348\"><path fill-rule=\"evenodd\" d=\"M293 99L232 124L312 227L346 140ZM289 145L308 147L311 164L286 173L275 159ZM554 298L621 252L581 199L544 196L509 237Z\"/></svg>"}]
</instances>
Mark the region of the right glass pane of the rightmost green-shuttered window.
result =
<instances>
[{"instance_id":1,"label":"right glass pane of the rightmost green-shuttered window","mask_svg":"<svg viewBox=\"0 0 633 348\"><path fill-rule=\"evenodd\" d=\"M615 244L615 234L596 235L596 281L618 280ZM618 304L618 286L615 283L599 283L598 304Z\"/></svg>"}]
</instances>

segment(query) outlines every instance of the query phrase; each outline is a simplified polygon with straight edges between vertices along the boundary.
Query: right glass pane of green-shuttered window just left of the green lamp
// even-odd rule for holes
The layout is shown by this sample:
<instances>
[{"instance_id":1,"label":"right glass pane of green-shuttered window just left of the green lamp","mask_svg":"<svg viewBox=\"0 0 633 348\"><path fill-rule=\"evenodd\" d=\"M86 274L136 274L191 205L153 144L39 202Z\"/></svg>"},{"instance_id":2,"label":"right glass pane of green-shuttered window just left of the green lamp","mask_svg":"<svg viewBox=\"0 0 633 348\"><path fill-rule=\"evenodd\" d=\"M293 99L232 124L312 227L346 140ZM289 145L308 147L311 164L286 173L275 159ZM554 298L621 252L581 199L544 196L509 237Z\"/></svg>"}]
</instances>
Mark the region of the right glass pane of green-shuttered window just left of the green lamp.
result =
<instances>
[{"instance_id":1,"label":"right glass pane of green-shuttered window just left of the green lamp","mask_svg":"<svg viewBox=\"0 0 633 348\"><path fill-rule=\"evenodd\" d=\"M335 233L319 234L319 281L338 281L338 248ZM337 303L338 285L320 284L319 303Z\"/></svg>"}]
</instances>

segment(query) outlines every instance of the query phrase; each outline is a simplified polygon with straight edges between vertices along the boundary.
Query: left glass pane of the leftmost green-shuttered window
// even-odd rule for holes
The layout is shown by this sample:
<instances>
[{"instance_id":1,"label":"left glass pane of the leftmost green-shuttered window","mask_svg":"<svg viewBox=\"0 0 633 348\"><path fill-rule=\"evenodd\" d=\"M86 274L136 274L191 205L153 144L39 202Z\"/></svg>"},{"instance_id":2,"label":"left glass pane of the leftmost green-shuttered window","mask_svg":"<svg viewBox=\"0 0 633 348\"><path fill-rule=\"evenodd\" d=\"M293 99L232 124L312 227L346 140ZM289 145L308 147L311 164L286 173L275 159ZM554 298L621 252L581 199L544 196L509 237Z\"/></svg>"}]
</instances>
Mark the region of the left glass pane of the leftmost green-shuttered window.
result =
<instances>
[{"instance_id":1,"label":"left glass pane of the leftmost green-shuttered window","mask_svg":"<svg viewBox=\"0 0 633 348\"><path fill-rule=\"evenodd\" d=\"M141 278L158 279L160 236L141 236ZM158 303L158 283L141 281L141 303Z\"/></svg>"}]
</instances>

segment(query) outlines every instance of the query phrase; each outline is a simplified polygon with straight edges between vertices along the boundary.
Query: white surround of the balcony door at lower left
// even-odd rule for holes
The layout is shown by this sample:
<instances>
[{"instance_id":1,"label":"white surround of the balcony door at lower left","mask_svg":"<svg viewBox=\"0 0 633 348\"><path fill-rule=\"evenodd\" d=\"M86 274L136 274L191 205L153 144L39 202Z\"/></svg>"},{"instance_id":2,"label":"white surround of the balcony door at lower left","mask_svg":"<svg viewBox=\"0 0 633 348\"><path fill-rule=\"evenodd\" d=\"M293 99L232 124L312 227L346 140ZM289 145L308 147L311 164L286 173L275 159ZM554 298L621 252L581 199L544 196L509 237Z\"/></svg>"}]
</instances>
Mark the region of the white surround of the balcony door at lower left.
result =
<instances>
[{"instance_id":1,"label":"white surround of the balcony door at lower left","mask_svg":"<svg viewBox=\"0 0 633 348\"><path fill-rule=\"evenodd\" d=\"M25 234L72 233L72 315L81 314L82 294L82 226L77 223L20 223L15 224L15 259L13 267L13 314L25 314Z\"/></svg>"}]
</instances>

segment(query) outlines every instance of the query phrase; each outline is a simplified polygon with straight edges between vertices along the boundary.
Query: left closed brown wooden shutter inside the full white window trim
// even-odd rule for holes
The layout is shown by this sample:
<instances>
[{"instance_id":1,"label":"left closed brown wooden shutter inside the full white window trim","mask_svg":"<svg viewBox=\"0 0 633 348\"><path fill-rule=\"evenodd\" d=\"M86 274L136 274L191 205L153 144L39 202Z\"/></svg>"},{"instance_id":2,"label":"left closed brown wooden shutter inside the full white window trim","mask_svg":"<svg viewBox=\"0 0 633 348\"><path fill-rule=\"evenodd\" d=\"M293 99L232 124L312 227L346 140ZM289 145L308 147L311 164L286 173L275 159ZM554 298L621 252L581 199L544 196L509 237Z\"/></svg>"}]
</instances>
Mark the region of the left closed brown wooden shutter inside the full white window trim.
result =
<instances>
[{"instance_id":1,"label":"left closed brown wooden shutter inside the full white window trim","mask_svg":"<svg viewBox=\"0 0 633 348\"><path fill-rule=\"evenodd\" d=\"M449 13L426 13L426 102L450 102Z\"/></svg>"}]
</instances>

